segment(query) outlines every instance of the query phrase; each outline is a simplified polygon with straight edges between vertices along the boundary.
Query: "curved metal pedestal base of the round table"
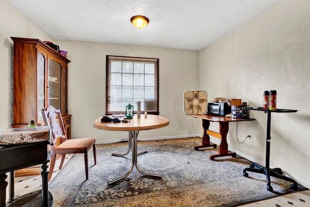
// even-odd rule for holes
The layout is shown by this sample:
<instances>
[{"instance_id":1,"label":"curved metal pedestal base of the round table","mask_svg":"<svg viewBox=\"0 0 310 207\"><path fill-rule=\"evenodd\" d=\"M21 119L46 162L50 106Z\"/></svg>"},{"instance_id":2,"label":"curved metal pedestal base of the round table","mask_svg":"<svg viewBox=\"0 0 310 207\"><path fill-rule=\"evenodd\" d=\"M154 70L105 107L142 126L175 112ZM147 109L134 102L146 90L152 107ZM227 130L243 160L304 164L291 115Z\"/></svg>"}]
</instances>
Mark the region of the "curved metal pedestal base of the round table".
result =
<instances>
[{"instance_id":1,"label":"curved metal pedestal base of the round table","mask_svg":"<svg viewBox=\"0 0 310 207\"><path fill-rule=\"evenodd\" d=\"M121 180L121 179L127 177L127 176L131 173L131 171L133 170L134 166L136 166L137 170L138 170L142 175L155 176L155 177L160 177L160 178L161 178L161 175L153 174L153 173L146 173L146 172L143 172L143 171L140 169L140 167L138 166L138 163L137 163L137 156L138 156L138 153L137 153L137 142L138 142L138 134L139 134L139 131L131 131L130 133L131 133L131 134L130 134L130 136L129 136L128 142L130 142L129 145L131 145L131 147L128 146L128 151L127 151L127 153L125 153L125 154L113 153L112 155L123 157L124 155L127 155L127 154L129 153L130 149L131 149L131 151L132 151L132 162L131 162L131 167L130 167L129 171L128 171L125 175L122 175L122 176L120 176L120 177L118 177L118 178L116 178L116 179L114 179L114 180L112 180L112 181L109 181L109 182L108 182L109 185L111 185L112 183L115 183L115 182L117 182L117 181L119 181L119 180ZM145 152L147 152L147 151L140 152L139 155L144 154Z\"/></svg>"}]
</instances>

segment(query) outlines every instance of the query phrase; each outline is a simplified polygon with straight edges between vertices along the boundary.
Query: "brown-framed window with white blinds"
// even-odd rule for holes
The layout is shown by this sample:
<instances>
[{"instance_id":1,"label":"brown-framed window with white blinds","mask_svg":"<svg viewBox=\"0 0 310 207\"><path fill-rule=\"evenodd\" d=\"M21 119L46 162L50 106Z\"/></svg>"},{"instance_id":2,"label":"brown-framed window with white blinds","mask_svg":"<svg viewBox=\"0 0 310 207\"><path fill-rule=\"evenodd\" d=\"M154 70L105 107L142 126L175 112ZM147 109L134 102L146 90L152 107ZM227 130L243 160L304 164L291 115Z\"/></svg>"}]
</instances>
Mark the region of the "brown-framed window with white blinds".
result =
<instances>
[{"instance_id":1,"label":"brown-framed window with white blinds","mask_svg":"<svg viewBox=\"0 0 310 207\"><path fill-rule=\"evenodd\" d=\"M159 59L107 55L106 114L124 113L128 104L137 111L159 114Z\"/></svg>"}]
</instances>

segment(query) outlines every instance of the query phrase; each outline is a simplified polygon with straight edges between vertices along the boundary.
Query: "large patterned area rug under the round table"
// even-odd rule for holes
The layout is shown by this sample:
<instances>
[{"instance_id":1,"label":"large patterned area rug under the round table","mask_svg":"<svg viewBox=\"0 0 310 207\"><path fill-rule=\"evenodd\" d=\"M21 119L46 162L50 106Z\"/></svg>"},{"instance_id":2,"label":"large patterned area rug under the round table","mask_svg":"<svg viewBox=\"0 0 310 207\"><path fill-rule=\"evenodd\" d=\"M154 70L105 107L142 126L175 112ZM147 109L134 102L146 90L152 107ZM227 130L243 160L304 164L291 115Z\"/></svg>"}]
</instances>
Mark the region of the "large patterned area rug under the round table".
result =
<instances>
[{"instance_id":1,"label":"large patterned area rug under the round table","mask_svg":"<svg viewBox=\"0 0 310 207\"><path fill-rule=\"evenodd\" d=\"M290 182L271 177L274 192L266 190L265 175L243 169L251 162L236 157L209 160L218 148L204 148L200 138L138 142L138 157L145 176L136 168L128 177L112 185L111 181L128 172L131 152L126 158L111 156L125 153L127 143L97 145L97 164L89 154L89 179L85 181L83 155L74 155L49 183L53 207L234 207L293 192ZM302 186L298 190L304 190Z\"/></svg>"}]
</instances>

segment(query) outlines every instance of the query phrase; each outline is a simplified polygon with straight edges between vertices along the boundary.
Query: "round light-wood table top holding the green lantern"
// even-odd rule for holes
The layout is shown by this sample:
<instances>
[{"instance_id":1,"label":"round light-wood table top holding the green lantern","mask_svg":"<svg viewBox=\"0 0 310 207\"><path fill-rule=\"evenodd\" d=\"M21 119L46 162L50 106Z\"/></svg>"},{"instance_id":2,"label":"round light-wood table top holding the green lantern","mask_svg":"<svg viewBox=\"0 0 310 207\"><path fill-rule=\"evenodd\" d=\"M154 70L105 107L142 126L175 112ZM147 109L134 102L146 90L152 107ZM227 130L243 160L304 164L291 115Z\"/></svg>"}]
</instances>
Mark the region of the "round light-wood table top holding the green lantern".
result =
<instances>
[{"instance_id":1,"label":"round light-wood table top holding the green lantern","mask_svg":"<svg viewBox=\"0 0 310 207\"><path fill-rule=\"evenodd\" d=\"M147 114L147 118L143 114L140 118L135 115L133 119L127 119L128 123L101 122L101 118L102 116L94 121L93 127L111 131L140 131L169 125L169 119L152 114Z\"/></svg>"}]
</instances>

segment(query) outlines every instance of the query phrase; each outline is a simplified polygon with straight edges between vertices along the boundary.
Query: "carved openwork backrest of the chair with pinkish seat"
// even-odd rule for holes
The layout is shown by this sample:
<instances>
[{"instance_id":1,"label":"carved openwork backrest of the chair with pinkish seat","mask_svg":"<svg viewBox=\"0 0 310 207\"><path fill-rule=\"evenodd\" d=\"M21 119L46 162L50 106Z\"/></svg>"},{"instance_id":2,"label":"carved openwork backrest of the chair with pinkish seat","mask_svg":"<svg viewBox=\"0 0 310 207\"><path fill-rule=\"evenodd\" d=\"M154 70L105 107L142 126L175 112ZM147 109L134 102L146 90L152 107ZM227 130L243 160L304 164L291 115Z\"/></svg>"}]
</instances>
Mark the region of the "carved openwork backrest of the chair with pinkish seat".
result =
<instances>
[{"instance_id":1,"label":"carved openwork backrest of the chair with pinkish seat","mask_svg":"<svg viewBox=\"0 0 310 207\"><path fill-rule=\"evenodd\" d=\"M44 124L52 126L53 144L56 146L57 138L66 140L66 132L64 130L62 114L60 109L55 109L53 106L48 106L42 109Z\"/></svg>"}]
</instances>

